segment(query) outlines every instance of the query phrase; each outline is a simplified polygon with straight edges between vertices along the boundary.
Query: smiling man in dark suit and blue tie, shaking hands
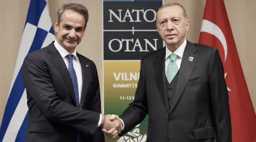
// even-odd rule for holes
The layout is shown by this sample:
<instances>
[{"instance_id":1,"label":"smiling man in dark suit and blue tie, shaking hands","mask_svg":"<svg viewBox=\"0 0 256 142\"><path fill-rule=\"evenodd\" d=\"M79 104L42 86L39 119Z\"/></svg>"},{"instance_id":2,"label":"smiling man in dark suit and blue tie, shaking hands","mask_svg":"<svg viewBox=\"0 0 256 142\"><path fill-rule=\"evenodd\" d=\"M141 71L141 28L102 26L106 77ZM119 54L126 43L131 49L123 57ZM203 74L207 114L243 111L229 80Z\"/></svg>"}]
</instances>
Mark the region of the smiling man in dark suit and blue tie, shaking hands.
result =
<instances>
[{"instance_id":1,"label":"smiling man in dark suit and blue tie, shaking hands","mask_svg":"<svg viewBox=\"0 0 256 142\"><path fill-rule=\"evenodd\" d=\"M88 10L64 4L55 20L56 40L26 56L23 82L28 99L28 142L100 142L102 128L120 121L101 114L95 63L76 52L84 36Z\"/></svg>"}]
</instances>

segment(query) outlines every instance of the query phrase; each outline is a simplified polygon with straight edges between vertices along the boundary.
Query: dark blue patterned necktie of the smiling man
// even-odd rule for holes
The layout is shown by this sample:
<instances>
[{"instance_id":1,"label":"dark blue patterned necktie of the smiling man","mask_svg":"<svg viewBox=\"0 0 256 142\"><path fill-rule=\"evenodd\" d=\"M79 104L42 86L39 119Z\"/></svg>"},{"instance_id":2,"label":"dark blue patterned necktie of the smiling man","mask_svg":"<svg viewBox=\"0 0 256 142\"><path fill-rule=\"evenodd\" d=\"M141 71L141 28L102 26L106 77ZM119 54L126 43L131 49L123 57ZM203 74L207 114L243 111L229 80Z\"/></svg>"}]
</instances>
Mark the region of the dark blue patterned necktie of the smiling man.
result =
<instances>
[{"instance_id":1,"label":"dark blue patterned necktie of the smiling man","mask_svg":"<svg viewBox=\"0 0 256 142\"><path fill-rule=\"evenodd\" d=\"M80 107L79 103L79 92L78 92L78 78L76 77L76 72L74 71L74 66L73 66L73 56L74 55L67 55L67 58L69 59L69 75L72 80L73 88L74 88L74 97L76 98L76 107ZM80 142L80 136L78 133L76 142Z\"/></svg>"}]
</instances>

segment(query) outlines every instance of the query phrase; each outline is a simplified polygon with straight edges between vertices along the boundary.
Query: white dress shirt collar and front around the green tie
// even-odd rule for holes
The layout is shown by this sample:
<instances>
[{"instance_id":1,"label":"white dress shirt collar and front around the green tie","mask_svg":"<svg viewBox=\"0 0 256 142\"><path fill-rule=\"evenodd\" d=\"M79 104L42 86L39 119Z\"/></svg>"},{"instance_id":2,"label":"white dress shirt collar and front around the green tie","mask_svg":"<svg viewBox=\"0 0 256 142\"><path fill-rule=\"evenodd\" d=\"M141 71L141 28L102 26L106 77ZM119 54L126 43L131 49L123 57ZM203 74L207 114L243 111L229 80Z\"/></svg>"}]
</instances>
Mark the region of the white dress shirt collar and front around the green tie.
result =
<instances>
[{"instance_id":1,"label":"white dress shirt collar and front around the green tie","mask_svg":"<svg viewBox=\"0 0 256 142\"><path fill-rule=\"evenodd\" d=\"M185 50L185 47L187 45L187 40L185 39L182 43L182 45L180 45L177 50L175 50L175 52L171 52L167 46L165 47L165 75L167 72L167 67L168 67L168 63L171 61L171 58L169 57L171 55L171 53L175 53L177 55L177 59L176 59L176 64L178 67L178 70L180 69L180 65L182 64L182 57L183 57L183 53Z\"/></svg>"}]
</instances>

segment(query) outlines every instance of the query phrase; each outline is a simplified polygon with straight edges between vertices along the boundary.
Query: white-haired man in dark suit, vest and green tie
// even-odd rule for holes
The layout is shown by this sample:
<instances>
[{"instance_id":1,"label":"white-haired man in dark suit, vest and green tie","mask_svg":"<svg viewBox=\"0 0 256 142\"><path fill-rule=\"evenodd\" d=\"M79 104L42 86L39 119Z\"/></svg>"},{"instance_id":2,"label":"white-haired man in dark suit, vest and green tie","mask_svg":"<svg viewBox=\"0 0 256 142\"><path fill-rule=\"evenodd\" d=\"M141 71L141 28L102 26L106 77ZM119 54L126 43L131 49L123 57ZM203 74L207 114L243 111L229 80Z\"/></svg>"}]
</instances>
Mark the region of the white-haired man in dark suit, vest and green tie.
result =
<instances>
[{"instance_id":1,"label":"white-haired man in dark suit, vest and green tie","mask_svg":"<svg viewBox=\"0 0 256 142\"><path fill-rule=\"evenodd\" d=\"M166 48L141 59L135 99L120 116L120 136L148 114L147 141L231 142L228 90L218 50L185 39L189 19L178 3L158 10L156 26ZM117 134L113 129L105 132Z\"/></svg>"}]
</instances>

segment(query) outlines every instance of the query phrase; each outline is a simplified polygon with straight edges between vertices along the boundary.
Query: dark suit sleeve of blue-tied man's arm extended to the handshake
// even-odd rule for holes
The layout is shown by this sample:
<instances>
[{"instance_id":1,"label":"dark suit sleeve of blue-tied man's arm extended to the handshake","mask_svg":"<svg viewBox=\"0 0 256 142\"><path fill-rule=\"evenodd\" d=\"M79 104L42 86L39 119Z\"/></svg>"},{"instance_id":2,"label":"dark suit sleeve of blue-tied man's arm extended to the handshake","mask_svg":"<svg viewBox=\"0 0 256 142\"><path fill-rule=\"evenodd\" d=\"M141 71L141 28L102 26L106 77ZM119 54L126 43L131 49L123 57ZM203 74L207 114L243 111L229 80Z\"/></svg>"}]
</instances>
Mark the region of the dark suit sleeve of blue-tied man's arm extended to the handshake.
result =
<instances>
[{"instance_id":1,"label":"dark suit sleeve of blue-tied man's arm extended to the handshake","mask_svg":"<svg viewBox=\"0 0 256 142\"><path fill-rule=\"evenodd\" d=\"M62 124L84 133L95 133L100 114L77 108L59 99L47 64L38 55L28 55L23 62L23 83L26 91L53 124Z\"/></svg>"}]
</instances>

